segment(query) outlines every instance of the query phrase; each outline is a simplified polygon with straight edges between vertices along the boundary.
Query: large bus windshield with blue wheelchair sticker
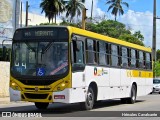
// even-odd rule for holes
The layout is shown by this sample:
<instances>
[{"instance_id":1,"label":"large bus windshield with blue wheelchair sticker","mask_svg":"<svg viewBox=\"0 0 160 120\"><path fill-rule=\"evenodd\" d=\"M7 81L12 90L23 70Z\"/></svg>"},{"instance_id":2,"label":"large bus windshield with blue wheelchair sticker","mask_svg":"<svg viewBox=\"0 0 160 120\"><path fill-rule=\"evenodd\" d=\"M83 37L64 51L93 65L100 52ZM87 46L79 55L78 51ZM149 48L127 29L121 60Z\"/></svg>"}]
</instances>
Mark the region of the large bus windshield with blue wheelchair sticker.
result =
<instances>
[{"instance_id":1,"label":"large bus windshield with blue wheelchair sticker","mask_svg":"<svg viewBox=\"0 0 160 120\"><path fill-rule=\"evenodd\" d=\"M15 42L11 72L24 76L51 76L68 70L67 42Z\"/></svg>"}]
</instances>

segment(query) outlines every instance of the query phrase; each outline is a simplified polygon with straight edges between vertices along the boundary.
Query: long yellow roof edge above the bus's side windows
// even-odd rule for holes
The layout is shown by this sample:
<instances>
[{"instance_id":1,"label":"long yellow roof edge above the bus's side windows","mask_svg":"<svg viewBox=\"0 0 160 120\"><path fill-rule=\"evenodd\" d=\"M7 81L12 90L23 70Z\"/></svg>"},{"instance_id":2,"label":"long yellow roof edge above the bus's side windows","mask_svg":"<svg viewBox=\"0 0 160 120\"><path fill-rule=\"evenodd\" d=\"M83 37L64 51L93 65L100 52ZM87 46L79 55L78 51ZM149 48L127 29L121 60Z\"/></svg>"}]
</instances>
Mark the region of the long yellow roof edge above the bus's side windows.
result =
<instances>
[{"instance_id":1,"label":"long yellow roof edge above the bus's side windows","mask_svg":"<svg viewBox=\"0 0 160 120\"><path fill-rule=\"evenodd\" d=\"M78 35L87 36L87 37L95 38L95 39L99 39L99 40L104 40L106 42L115 43L115 44L123 45L123 46L126 46L126 47L129 46L131 48L138 49L138 50L143 50L143 51L146 51L146 52L151 52L151 48L147 48L147 47L144 47L144 46L140 46L140 45L137 45L137 44L126 42L126 41L119 40L119 39L116 39L116 38L111 38L111 37L108 37L108 36L105 36L105 35L97 34L97 33L94 33L94 32L90 32L90 31L87 31L87 30L83 30L83 29L79 29L79 28L75 28L75 27L71 27L71 26L68 26L68 29L70 29L72 31L72 33L75 33L75 34L78 34Z\"/></svg>"}]
</instances>

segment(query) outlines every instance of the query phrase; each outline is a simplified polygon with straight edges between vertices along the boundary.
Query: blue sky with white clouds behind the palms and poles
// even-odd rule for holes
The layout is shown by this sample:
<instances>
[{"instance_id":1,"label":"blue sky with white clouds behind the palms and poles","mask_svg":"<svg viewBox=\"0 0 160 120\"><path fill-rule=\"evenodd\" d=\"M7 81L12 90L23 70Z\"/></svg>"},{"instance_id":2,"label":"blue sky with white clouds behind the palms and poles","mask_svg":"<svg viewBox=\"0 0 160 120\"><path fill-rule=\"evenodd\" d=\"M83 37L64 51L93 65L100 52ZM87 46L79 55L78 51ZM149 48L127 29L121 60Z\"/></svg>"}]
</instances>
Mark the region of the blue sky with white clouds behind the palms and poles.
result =
<instances>
[{"instance_id":1,"label":"blue sky with white clouds behind the palms and poles","mask_svg":"<svg viewBox=\"0 0 160 120\"><path fill-rule=\"evenodd\" d=\"M30 5L29 12L34 14L41 14L39 4L42 0L28 0ZM107 0L93 0L93 17L104 17L106 19L114 20L114 16L110 11L107 12ZM117 17L117 21L124 23L131 28L131 32L141 31L144 36L144 44L147 47L152 47L152 30L153 30L153 0L122 0L129 4L129 8L123 7L124 14ZM25 11L26 0L22 0L23 10ZM86 0L85 7L87 10L87 17L91 16L92 0ZM157 0L157 16L160 17L160 0ZM157 49L160 49L160 19L157 19Z\"/></svg>"}]
</instances>

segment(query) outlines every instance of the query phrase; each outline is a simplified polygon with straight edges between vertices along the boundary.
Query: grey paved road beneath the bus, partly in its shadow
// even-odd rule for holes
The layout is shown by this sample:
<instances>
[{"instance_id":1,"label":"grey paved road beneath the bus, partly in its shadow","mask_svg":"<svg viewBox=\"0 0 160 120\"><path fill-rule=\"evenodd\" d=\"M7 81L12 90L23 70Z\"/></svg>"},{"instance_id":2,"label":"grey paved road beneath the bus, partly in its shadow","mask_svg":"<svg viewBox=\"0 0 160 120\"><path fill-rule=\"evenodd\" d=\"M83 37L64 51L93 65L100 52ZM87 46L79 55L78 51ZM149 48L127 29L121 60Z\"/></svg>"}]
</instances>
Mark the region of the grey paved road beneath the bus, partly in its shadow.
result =
<instances>
[{"instance_id":1,"label":"grey paved road beneath the bus, partly in its shadow","mask_svg":"<svg viewBox=\"0 0 160 120\"><path fill-rule=\"evenodd\" d=\"M89 117L87 119L96 119L97 117L107 117L114 120L115 117L131 117L135 119L139 117L141 119L151 119L153 117L144 117L144 115L155 116L154 119L160 117L160 95L151 94L143 97L138 97L135 104L121 104L119 99L106 100L98 102L94 109L91 111L83 111L80 109L79 104L50 104L47 110L37 110L33 103L17 102L10 104L0 104L1 112L12 113L37 113L42 115L42 118L32 118L34 120L43 120L43 117L55 117L56 119L63 119L63 117L69 117L72 120L76 117L76 120ZM127 116L128 115L128 116ZM137 116L136 116L137 115ZM59 118L61 117L61 118ZM70 118L71 117L71 118ZM17 119L17 118L16 118ZM26 118L27 119L27 118ZM116 119L116 118L115 118Z\"/></svg>"}]
</instances>

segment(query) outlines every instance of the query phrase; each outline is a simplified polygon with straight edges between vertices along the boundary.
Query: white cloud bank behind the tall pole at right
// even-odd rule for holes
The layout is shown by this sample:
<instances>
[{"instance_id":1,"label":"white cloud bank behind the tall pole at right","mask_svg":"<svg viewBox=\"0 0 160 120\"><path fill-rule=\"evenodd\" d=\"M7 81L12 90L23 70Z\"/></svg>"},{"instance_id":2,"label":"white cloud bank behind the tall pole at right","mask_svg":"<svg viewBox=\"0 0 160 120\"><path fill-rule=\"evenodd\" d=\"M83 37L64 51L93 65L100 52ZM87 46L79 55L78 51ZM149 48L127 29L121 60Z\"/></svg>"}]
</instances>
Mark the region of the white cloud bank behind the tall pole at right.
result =
<instances>
[{"instance_id":1,"label":"white cloud bank behind the tall pole at right","mask_svg":"<svg viewBox=\"0 0 160 120\"><path fill-rule=\"evenodd\" d=\"M150 11L134 12L133 10L128 10L126 14L119 17L119 21L131 27L132 33L140 30L144 36L145 45L152 47L153 13ZM158 24L160 24L160 21L157 20L157 34L160 33ZM160 49L160 36L158 35L157 48Z\"/></svg>"}]
</instances>

